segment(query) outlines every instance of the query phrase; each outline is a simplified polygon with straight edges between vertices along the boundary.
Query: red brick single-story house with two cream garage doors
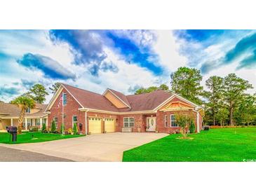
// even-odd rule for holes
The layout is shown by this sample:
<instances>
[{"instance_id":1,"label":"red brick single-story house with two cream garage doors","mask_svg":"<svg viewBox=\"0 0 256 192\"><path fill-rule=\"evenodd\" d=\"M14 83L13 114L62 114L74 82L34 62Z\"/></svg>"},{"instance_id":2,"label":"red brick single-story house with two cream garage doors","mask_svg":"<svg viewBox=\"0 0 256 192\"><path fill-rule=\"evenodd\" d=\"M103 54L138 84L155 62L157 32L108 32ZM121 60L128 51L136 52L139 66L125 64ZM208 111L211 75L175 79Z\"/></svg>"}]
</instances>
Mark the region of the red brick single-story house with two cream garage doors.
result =
<instances>
[{"instance_id":1,"label":"red brick single-story house with two cream garage doors","mask_svg":"<svg viewBox=\"0 0 256 192\"><path fill-rule=\"evenodd\" d=\"M63 95L63 108L61 97ZM141 95L123 95L107 89L102 95L62 84L46 108L48 126L55 121L65 129L78 125L83 134L102 132L173 132L180 130L175 111L194 114L196 132L202 129L203 109L179 95L156 90Z\"/></svg>"}]
</instances>

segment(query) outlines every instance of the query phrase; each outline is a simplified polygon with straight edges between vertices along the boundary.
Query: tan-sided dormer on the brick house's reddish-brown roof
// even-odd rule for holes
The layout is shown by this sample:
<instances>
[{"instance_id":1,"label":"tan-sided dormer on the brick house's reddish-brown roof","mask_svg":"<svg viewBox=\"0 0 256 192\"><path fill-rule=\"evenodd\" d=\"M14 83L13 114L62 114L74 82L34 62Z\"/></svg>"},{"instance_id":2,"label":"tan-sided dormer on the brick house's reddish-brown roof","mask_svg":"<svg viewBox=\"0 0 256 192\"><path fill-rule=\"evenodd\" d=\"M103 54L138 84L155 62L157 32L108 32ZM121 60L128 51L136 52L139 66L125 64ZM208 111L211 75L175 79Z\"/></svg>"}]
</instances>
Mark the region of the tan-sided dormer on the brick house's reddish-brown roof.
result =
<instances>
[{"instance_id":1,"label":"tan-sided dormer on the brick house's reddish-brown roof","mask_svg":"<svg viewBox=\"0 0 256 192\"><path fill-rule=\"evenodd\" d=\"M126 95L123 95L121 92L108 88L103 93L103 96L106 97L107 100L109 100L109 102L111 102L116 108L130 108Z\"/></svg>"}]
</instances>

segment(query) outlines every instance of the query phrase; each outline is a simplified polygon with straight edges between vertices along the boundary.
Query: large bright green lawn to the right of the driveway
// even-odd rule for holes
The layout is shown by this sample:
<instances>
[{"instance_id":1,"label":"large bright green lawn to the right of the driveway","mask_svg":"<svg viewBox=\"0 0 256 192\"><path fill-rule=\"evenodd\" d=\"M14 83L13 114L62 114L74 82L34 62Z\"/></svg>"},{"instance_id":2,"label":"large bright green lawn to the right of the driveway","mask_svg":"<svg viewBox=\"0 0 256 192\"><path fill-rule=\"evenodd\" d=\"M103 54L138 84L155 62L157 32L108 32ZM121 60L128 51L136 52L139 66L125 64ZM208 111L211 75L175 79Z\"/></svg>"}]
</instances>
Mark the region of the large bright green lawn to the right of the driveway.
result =
<instances>
[{"instance_id":1,"label":"large bright green lawn to the right of the driveway","mask_svg":"<svg viewBox=\"0 0 256 192\"><path fill-rule=\"evenodd\" d=\"M256 128L223 128L190 135L194 139L177 139L168 135L149 144L123 152L130 162L224 162L256 160Z\"/></svg>"}]
</instances>

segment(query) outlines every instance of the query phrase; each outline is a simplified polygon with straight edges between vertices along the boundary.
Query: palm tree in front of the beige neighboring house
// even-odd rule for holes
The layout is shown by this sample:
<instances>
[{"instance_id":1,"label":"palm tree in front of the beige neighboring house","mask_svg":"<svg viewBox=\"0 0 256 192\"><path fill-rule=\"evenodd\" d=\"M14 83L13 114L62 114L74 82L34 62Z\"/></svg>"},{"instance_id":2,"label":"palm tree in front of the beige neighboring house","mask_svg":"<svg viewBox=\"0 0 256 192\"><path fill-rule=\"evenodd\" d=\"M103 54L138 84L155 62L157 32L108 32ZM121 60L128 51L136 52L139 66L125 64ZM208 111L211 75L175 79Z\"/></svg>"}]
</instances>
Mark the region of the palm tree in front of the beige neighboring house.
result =
<instances>
[{"instance_id":1,"label":"palm tree in front of the beige neighboring house","mask_svg":"<svg viewBox=\"0 0 256 192\"><path fill-rule=\"evenodd\" d=\"M20 96L11 101L12 104L16 104L20 108L20 116L18 119L18 134L22 132L23 119L25 117L25 111L27 108L34 108L35 102L29 97Z\"/></svg>"}]
</instances>

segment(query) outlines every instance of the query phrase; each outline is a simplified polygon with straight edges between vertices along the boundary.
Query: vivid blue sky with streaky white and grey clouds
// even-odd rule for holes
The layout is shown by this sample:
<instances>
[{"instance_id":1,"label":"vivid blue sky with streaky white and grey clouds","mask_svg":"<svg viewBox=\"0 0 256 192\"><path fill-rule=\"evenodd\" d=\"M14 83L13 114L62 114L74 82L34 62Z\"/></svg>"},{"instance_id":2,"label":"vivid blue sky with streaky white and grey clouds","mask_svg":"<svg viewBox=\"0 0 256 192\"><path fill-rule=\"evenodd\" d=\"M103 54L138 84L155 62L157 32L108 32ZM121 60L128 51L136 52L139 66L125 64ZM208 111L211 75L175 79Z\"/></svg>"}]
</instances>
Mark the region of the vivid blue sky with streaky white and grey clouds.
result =
<instances>
[{"instance_id":1,"label":"vivid blue sky with streaky white and grey clouds","mask_svg":"<svg viewBox=\"0 0 256 192\"><path fill-rule=\"evenodd\" d=\"M256 30L0 30L0 100L35 83L125 94L170 86L179 67L210 76L235 73L256 92ZM53 95L46 97L46 103Z\"/></svg>"}]
</instances>

